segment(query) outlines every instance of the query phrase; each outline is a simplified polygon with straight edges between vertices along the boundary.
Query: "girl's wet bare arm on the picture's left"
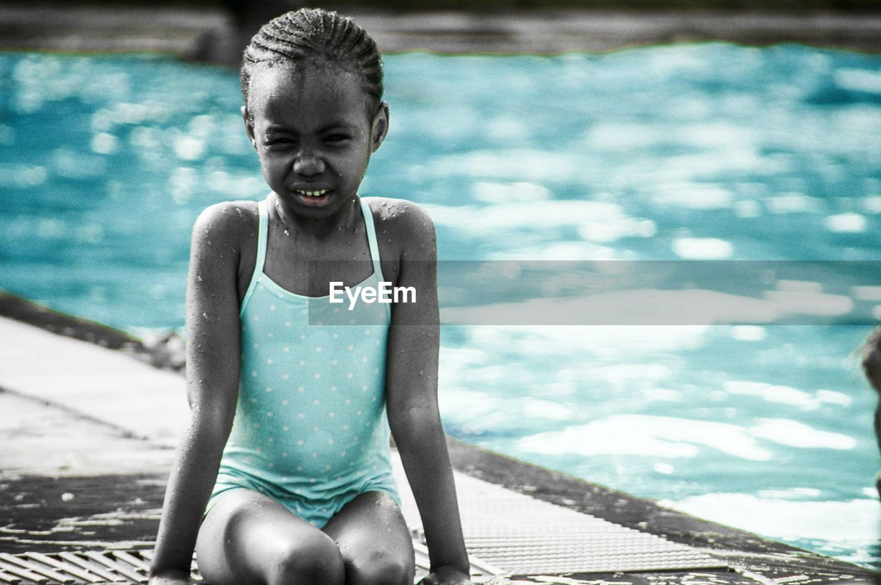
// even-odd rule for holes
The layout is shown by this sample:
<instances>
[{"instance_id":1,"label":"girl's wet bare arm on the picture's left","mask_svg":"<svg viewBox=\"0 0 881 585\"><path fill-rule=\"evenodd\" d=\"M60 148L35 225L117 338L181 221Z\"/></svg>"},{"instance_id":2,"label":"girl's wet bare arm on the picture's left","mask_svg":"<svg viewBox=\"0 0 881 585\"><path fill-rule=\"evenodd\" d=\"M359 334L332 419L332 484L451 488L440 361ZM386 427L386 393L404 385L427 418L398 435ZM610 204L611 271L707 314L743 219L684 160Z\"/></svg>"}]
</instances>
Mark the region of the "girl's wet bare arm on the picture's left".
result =
<instances>
[{"instance_id":1,"label":"girl's wet bare arm on the picture's left","mask_svg":"<svg viewBox=\"0 0 881 585\"><path fill-rule=\"evenodd\" d=\"M190 419L168 479L151 585L189 582L199 525L233 425L239 384L238 244L248 232L246 223L233 204L222 203L205 209L193 228L186 317Z\"/></svg>"}]
</instances>

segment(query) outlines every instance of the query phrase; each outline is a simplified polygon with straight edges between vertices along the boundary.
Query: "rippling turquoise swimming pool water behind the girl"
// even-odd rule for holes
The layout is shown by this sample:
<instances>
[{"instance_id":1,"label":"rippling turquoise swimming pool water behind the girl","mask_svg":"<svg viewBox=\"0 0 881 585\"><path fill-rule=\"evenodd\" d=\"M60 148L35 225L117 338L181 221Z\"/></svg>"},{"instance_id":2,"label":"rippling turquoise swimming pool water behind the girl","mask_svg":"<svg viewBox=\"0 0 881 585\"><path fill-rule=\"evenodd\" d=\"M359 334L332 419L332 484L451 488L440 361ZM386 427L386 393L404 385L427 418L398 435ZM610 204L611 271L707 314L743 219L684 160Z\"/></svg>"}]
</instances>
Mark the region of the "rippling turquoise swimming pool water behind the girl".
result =
<instances>
[{"instance_id":1,"label":"rippling turquoise swimming pool water behind the girl","mask_svg":"<svg viewBox=\"0 0 881 585\"><path fill-rule=\"evenodd\" d=\"M361 193L423 204L442 259L881 260L881 56L386 67L392 127ZM196 215L266 192L235 72L5 54L0 100L0 288L136 334L180 327ZM852 355L869 331L446 326L441 410L466 442L881 567L877 399Z\"/></svg>"}]
</instances>

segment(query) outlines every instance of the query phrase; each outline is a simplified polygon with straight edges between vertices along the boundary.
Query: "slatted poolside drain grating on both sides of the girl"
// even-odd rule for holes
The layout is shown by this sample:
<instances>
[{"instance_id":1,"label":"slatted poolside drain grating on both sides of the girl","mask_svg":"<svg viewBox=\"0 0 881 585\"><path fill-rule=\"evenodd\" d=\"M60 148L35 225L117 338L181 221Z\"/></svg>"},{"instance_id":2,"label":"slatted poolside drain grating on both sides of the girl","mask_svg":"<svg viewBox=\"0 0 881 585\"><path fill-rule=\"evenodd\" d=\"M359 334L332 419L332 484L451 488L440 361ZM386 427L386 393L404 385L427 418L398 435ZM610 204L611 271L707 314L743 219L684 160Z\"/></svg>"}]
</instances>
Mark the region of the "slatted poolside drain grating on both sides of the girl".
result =
<instances>
[{"instance_id":1,"label":"slatted poolside drain grating on both sides of the girl","mask_svg":"<svg viewBox=\"0 0 881 585\"><path fill-rule=\"evenodd\" d=\"M418 576L427 574L416 501L393 457L403 516L414 534ZM725 568L725 563L686 545L595 516L455 474L465 545L476 577L561 573L615 573ZM145 583L152 551L0 553L0 583ZM202 581L192 567L193 579Z\"/></svg>"}]
</instances>

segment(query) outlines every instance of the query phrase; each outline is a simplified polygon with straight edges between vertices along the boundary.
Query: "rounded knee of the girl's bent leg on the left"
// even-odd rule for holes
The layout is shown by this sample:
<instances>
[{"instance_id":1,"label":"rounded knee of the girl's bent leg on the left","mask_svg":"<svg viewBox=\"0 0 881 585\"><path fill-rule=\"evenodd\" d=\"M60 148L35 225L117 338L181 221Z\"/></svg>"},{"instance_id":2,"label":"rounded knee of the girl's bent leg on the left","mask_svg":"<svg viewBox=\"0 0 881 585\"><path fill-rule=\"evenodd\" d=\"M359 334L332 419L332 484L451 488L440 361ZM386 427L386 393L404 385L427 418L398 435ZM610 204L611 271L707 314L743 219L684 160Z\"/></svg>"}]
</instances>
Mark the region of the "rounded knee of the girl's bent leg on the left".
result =
<instances>
[{"instance_id":1,"label":"rounded knee of the girl's bent leg on the left","mask_svg":"<svg viewBox=\"0 0 881 585\"><path fill-rule=\"evenodd\" d=\"M269 567L269 585L327 583L343 585L345 567L336 543L322 533L278 545Z\"/></svg>"}]
</instances>

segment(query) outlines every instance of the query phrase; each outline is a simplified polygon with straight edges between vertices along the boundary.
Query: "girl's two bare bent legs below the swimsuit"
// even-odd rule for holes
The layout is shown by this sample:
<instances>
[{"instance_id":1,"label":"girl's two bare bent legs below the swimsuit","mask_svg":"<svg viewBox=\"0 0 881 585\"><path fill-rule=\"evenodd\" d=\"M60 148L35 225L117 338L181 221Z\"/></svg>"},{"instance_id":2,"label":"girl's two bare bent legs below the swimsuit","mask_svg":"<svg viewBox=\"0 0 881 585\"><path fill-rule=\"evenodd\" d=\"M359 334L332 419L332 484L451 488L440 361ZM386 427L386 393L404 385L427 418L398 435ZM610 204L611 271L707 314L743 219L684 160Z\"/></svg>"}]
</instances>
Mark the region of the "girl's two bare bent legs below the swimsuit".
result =
<instances>
[{"instance_id":1,"label":"girl's two bare bent legs below the swimsuit","mask_svg":"<svg viewBox=\"0 0 881 585\"><path fill-rule=\"evenodd\" d=\"M277 501L235 489L211 508L196 543L212 585L413 582L413 544L388 495L361 494L318 530Z\"/></svg>"}]
</instances>

